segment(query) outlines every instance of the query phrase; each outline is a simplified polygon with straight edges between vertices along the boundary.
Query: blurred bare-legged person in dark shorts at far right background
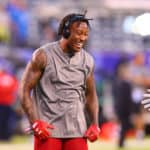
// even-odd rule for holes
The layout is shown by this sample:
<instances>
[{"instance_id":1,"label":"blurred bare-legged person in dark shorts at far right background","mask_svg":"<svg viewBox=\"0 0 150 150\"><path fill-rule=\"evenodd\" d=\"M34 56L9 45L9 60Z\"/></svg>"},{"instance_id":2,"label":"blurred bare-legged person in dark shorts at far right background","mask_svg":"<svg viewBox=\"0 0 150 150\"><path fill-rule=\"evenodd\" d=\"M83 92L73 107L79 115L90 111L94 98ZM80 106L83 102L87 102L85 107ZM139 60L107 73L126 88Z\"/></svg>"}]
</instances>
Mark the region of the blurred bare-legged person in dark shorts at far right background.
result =
<instances>
[{"instance_id":1,"label":"blurred bare-legged person in dark shorts at far right background","mask_svg":"<svg viewBox=\"0 0 150 150\"><path fill-rule=\"evenodd\" d=\"M144 138L144 111L141 106L144 91L150 86L150 70L145 65L145 54L138 52L129 63L128 70L130 80L133 86L133 124L136 129L136 138L141 140Z\"/></svg>"}]
</instances>

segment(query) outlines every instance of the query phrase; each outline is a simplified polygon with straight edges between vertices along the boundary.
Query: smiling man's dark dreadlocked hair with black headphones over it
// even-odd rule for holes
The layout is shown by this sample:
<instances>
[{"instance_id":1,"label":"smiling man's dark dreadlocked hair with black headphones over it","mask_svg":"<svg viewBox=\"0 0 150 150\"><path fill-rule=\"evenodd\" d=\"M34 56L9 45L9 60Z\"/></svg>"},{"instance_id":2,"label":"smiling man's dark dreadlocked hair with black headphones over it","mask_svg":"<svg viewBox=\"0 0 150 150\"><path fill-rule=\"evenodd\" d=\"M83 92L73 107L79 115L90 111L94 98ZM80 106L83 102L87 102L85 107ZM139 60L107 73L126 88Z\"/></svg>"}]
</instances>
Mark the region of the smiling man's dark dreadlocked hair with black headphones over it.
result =
<instances>
[{"instance_id":1,"label":"smiling man's dark dreadlocked hair with black headphones over it","mask_svg":"<svg viewBox=\"0 0 150 150\"><path fill-rule=\"evenodd\" d=\"M68 14L60 22L58 28L58 35L63 36L64 38L68 38L70 36L70 31L69 31L70 26L76 21L85 22L90 28L89 20L92 19L86 18L85 14L76 14L76 13Z\"/></svg>"}]
</instances>

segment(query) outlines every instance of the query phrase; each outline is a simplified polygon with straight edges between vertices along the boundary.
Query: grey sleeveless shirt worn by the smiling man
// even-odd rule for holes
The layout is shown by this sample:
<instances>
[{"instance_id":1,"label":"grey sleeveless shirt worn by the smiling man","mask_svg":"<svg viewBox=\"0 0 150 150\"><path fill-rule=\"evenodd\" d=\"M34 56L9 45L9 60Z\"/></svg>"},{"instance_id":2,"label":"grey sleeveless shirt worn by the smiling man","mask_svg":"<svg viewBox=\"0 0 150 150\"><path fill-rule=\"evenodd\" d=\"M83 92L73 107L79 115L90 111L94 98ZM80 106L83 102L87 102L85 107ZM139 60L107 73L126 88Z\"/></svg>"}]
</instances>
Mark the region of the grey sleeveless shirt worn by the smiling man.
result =
<instances>
[{"instance_id":1,"label":"grey sleeveless shirt worn by the smiling man","mask_svg":"<svg viewBox=\"0 0 150 150\"><path fill-rule=\"evenodd\" d=\"M46 44L43 75L33 90L33 99L41 120L52 124L52 137L83 137L86 78L93 68L93 58L83 49L72 57L62 51L58 42Z\"/></svg>"}]
</instances>

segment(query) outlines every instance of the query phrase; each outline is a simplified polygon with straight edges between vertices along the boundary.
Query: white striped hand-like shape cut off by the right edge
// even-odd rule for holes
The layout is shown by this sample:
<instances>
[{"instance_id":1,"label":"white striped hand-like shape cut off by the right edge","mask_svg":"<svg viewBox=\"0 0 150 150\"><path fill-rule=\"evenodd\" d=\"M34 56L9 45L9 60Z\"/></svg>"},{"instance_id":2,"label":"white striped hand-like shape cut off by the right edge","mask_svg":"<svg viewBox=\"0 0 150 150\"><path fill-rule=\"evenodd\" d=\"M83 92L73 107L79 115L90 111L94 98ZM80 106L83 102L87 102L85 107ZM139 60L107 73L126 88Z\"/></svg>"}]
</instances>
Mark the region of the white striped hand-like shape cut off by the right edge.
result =
<instances>
[{"instance_id":1,"label":"white striped hand-like shape cut off by the right edge","mask_svg":"<svg viewBox=\"0 0 150 150\"><path fill-rule=\"evenodd\" d=\"M144 93L143 100L141 102L145 109L150 111L150 89L147 89L147 91Z\"/></svg>"}]
</instances>

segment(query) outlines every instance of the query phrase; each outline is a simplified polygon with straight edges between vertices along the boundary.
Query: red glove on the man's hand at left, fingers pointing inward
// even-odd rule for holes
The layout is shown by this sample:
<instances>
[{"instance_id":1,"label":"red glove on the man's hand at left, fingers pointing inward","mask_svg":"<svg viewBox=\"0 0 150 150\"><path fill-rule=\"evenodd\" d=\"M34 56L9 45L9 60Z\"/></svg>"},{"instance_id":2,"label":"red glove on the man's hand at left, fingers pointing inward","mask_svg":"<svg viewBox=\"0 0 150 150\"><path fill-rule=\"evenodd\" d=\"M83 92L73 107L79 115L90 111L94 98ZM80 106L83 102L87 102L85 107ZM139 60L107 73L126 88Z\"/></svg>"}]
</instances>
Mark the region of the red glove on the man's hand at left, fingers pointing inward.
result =
<instances>
[{"instance_id":1,"label":"red glove on the man's hand at left, fingers pointing inward","mask_svg":"<svg viewBox=\"0 0 150 150\"><path fill-rule=\"evenodd\" d=\"M34 135L40 140L46 140L51 136L48 128L54 129L52 125L41 120L36 120L32 125L32 131L34 132Z\"/></svg>"}]
</instances>

